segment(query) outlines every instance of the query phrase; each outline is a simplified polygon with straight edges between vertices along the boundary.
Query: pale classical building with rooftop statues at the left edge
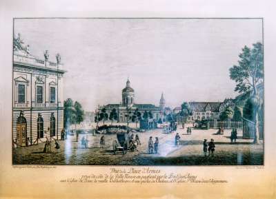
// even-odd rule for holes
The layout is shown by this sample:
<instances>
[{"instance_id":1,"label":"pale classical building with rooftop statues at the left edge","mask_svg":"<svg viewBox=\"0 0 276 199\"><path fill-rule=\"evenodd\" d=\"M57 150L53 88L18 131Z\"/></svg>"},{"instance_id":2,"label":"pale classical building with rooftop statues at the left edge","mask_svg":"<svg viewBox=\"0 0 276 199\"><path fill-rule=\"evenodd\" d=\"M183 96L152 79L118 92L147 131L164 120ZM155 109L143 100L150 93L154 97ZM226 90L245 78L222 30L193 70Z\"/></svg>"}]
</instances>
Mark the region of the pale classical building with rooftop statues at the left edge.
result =
<instances>
[{"instance_id":1,"label":"pale classical building with rooftop statues at the left edge","mask_svg":"<svg viewBox=\"0 0 276 199\"><path fill-rule=\"evenodd\" d=\"M61 138L63 129L63 74L61 58L49 61L30 54L20 34L14 37L12 79L12 139L14 146Z\"/></svg>"}]
</instances>

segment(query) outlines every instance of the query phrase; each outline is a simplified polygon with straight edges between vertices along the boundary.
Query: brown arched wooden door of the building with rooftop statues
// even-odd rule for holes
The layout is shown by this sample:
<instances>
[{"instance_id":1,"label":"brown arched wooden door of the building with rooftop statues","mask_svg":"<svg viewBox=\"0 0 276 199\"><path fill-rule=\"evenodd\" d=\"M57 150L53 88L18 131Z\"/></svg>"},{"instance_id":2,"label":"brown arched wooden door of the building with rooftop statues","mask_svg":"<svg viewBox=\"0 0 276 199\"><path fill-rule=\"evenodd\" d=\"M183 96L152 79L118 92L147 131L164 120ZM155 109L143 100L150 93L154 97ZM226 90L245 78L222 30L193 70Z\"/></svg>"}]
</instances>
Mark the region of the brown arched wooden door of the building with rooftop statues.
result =
<instances>
[{"instance_id":1,"label":"brown arched wooden door of the building with rooftop statues","mask_svg":"<svg viewBox=\"0 0 276 199\"><path fill-rule=\"evenodd\" d=\"M25 147L27 145L27 121L23 116L23 112L20 112L20 116L17 118L17 145Z\"/></svg>"}]
</instances>

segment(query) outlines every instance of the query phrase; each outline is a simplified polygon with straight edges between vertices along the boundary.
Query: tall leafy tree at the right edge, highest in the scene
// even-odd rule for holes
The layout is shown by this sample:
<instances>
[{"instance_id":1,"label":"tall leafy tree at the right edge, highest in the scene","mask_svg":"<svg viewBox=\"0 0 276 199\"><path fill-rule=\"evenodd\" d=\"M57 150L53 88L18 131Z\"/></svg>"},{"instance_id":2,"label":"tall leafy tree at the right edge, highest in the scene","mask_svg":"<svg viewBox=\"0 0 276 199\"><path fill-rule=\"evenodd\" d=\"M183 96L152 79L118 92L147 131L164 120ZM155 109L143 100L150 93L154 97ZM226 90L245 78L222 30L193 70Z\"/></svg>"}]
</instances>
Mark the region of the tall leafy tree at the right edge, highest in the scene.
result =
<instances>
[{"instance_id":1,"label":"tall leafy tree at the right edge, highest in the scene","mask_svg":"<svg viewBox=\"0 0 276 199\"><path fill-rule=\"evenodd\" d=\"M259 110L263 98L257 86L263 87L264 63L262 43L254 43L253 49L244 46L239 54L238 65L230 68L230 78L236 82L235 91L248 96L253 103L253 121L255 123L254 143L259 143Z\"/></svg>"}]
</instances>

